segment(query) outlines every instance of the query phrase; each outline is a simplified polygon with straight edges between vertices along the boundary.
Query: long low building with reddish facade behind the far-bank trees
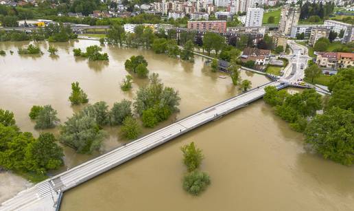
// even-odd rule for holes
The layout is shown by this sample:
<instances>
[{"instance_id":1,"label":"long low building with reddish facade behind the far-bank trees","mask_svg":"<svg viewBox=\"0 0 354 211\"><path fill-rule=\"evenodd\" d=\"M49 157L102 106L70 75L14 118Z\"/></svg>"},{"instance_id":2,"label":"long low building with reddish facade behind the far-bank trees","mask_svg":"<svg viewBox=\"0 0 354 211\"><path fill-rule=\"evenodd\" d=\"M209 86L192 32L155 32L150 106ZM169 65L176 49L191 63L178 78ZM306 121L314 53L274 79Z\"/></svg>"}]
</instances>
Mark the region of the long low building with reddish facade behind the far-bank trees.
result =
<instances>
[{"instance_id":1,"label":"long low building with reddish facade behind the far-bank trees","mask_svg":"<svg viewBox=\"0 0 354 211\"><path fill-rule=\"evenodd\" d=\"M211 30L215 32L226 32L226 21L188 21L189 30Z\"/></svg>"}]
</instances>

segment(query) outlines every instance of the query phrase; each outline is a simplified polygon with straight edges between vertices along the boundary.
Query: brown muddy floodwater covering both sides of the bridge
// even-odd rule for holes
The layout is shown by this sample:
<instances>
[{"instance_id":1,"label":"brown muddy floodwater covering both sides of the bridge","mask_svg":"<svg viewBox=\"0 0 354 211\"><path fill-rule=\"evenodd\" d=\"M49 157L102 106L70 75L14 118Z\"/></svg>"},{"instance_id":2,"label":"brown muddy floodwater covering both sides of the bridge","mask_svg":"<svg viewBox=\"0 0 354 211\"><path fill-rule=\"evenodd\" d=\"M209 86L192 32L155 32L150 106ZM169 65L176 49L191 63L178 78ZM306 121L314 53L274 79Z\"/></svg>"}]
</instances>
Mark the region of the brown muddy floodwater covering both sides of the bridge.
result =
<instances>
[{"instance_id":1,"label":"brown muddy floodwater covering both sides of the bridge","mask_svg":"<svg viewBox=\"0 0 354 211\"><path fill-rule=\"evenodd\" d=\"M0 57L0 107L14 111L23 131L38 135L28 118L33 104L51 104L62 122L78 107L67 98L70 84L80 82L90 102L104 100L111 106L132 99L146 80L134 80L124 93L119 83L127 74L123 63L142 54L151 72L160 74L165 85L175 87L182 98L182 118L239 93L231 79L211 73L204 59L186 63L165 55L137 49L103 47L109 63L75 59L73 47L97 45L95 41L55 44L59 57L19 56L16 48L27 43L0 43L0 49L15 53ZM242 73L253 87L266 78ZM174 121L163 122L161 126ZM108 128L104 150L121 144L118 128ZM58 133L57 130L52 130ZM145 132L149 132L145 130ZM182 190L180 146L196 142L205 159L201 169L211 176L211 186L192 197ZM77 155L65 148L71 168L95 155ZM64 193L61 210L351 210L354 207L354 168L322 159L303 149L303 136L291 131L273 115L262 100L190 133L178 137L108 173Z\"/></svg>"}]
</instances>

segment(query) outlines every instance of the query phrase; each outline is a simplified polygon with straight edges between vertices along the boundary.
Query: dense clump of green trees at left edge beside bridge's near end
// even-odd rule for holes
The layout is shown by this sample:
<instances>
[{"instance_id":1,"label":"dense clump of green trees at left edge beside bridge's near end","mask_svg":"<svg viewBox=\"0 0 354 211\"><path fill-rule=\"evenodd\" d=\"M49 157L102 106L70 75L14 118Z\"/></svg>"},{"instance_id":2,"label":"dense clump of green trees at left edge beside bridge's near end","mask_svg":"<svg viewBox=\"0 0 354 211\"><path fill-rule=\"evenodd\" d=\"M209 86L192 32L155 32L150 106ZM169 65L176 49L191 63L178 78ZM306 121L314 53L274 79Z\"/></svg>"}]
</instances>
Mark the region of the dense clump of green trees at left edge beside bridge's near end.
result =
<instances>
[{"instance_id":1,"label":"dense clump of green trees at left edge beside bridge's near end","mask_svg":"<svg viewBox=\"0 0 354 211\"><path fill-rule=\"evenodd\" d=\"M23 175L32 175L34 181L45 177L47 170L64 164L62 148L51 133L41 133L36 139L32 133L23 133L16 126L14 114L0 109L0 166Z\"/></svg>"}]
</instances>

